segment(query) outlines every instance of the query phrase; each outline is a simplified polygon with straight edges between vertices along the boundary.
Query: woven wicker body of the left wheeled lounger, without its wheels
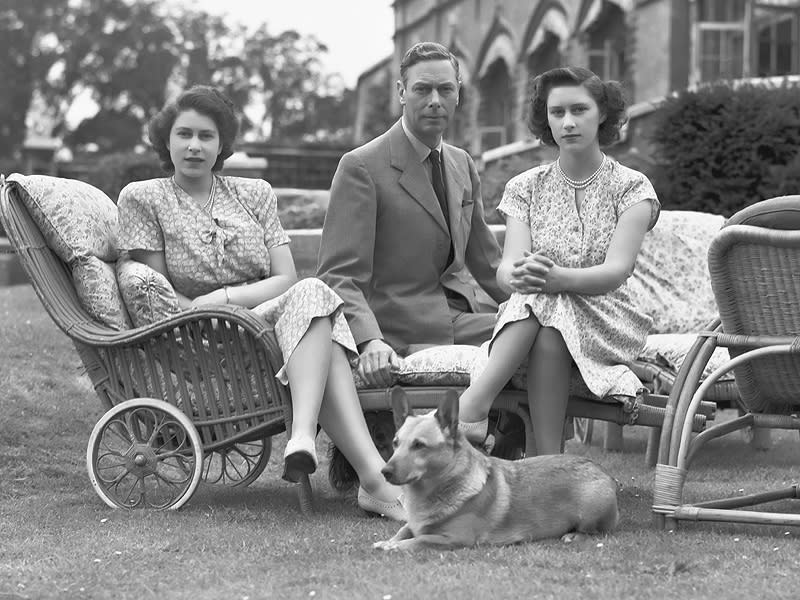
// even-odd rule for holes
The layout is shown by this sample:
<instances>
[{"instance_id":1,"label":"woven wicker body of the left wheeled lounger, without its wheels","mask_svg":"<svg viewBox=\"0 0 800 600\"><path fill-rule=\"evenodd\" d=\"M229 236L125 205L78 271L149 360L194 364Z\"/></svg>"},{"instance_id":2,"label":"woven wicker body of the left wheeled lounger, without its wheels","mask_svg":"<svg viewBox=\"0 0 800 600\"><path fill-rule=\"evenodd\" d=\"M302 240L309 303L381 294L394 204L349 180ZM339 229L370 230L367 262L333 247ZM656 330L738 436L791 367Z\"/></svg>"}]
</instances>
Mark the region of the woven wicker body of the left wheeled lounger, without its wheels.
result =
<instances>
[{"instance_id":1,"label":"woven wicker body of the left wheeled lounger, without its wheels","mask_svg":"<svg viewBox=\"0 0 800 600\"><path fill-rule=\"evenodd\" d=\"M83 308L67 265L5 185L0 220L43 306L75 344L106 408L130 398L158 398L195 423L206 450L281 431L290 405L278 384L280 351L251 311L219 307L116 331ZM199 316L203 315L203 316Z\"/></svg>"}]
</instances>

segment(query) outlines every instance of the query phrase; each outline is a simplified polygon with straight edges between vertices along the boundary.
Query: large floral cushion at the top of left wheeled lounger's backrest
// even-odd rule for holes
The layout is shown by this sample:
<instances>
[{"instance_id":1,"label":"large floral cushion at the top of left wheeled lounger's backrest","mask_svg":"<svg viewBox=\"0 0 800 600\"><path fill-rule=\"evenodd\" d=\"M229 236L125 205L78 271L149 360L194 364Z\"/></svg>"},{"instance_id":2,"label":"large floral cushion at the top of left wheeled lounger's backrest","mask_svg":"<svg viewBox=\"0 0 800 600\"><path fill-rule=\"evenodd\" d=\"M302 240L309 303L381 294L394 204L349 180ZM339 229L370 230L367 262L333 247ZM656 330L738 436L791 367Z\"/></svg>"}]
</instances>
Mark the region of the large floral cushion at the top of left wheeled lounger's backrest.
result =
<instances>
[{"instance_id":1,"label":"large floral cushion at the top of left wheeled lounger's backrest","mask_svg":"<svg viewBox=\"0 0 800 600\"><path fill-rule=\"evenodd\" d=\"M117 206L94 186L48 175L10 175L47 245L70 266L78 258L117 259Z\"/></svg>"}]
</instances>

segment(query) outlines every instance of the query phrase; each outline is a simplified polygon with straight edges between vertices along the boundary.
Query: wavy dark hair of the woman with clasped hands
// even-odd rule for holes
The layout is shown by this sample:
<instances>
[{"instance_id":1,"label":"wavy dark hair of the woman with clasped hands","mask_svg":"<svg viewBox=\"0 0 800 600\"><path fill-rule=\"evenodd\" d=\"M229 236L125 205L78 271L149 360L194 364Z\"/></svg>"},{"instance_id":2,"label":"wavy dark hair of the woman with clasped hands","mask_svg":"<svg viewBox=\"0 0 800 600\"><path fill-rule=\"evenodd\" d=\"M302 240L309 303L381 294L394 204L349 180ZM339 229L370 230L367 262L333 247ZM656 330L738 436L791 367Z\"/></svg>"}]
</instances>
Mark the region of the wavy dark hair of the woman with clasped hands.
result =
<instances>
[{"instance_id":1,"label":"wavy dark hair of the woman with clasped hands","mask_svg":"<svg viewBox=\"0 0 800 600\"><path fill-rule=\"evenodd\" d=\"M618 81L603 81L583 67L558 67L534 78L528 105L528 129L531 133L548 146L557 145L547 122L547 97L554 87L569 85L586 88L597 102L600 113L605 115L597 130L600 145L608 146L619 140L619 130L628 120L622 85Z\"/></svg>"}]
</instances>

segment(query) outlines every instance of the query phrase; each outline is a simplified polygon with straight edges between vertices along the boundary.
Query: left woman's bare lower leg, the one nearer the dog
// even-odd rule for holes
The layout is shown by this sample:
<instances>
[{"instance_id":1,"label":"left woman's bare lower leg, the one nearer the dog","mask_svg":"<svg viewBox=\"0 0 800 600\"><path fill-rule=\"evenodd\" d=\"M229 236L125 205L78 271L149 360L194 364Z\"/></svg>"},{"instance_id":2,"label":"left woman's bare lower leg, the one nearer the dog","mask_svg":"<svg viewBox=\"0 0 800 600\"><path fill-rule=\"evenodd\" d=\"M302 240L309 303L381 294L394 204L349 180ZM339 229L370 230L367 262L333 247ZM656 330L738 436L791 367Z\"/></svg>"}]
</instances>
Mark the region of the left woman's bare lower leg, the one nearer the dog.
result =
<instances>
[{"instance_id":1,"label":"left woman's bare lower leg, the one nearer the dog","mask_svg":"<svg viewBox=\"0 0 800 600\"><path fill-rule=\"evenodd\" d=\"M347 356L339 344L332 346L319 423L355 469L361 487L379 500L392 502L400 488L389 484L381 473L386 463L369 435Z\"/></svg>"}]
</instances>

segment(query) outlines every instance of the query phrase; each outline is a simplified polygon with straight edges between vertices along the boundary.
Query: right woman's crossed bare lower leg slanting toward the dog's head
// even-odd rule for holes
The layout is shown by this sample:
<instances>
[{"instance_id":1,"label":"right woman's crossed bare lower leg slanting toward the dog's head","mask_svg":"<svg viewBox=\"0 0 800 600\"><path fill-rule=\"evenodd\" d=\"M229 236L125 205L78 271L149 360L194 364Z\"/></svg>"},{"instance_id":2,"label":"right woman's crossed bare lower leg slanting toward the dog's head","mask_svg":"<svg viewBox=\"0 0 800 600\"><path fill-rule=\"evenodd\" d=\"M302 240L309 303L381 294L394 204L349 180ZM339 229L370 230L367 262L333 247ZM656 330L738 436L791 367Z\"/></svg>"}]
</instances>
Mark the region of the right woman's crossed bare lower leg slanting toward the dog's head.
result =
<instances>
[{"instance_id":1,"label":"right woman's crossed bare lower leg slanting toward the dog's head","mask_svg":"<svg viewBox=\"0 0 800 600\"><path fill-rule=\"evenodd\" d=\"M540 329L539 321L531 316L509 323L497 334L486 368L461 394L458 407L461 421L473 423L486 418L497 394L530 353Z\"/></svg>"}]
</instances>

